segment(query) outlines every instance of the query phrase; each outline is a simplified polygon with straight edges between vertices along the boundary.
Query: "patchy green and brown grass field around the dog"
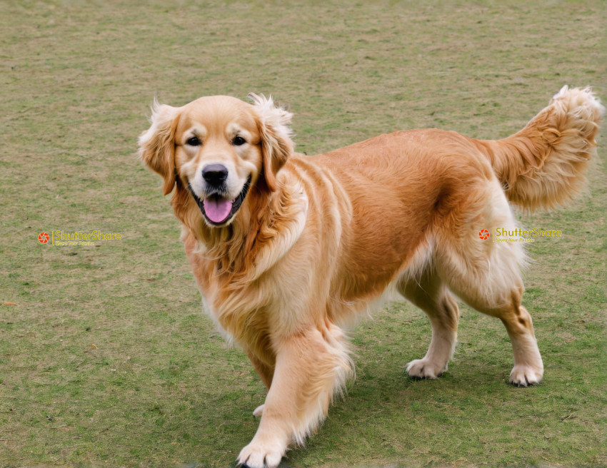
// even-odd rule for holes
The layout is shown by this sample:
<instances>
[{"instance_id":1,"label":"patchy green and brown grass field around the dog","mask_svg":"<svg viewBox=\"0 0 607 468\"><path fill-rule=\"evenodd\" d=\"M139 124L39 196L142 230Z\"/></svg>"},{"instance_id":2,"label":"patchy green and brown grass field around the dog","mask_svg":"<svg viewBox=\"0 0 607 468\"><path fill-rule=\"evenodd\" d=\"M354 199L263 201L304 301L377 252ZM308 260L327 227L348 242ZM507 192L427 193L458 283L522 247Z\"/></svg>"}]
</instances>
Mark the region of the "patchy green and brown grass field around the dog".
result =
<instances>
[{"instance_id":1,"label":"patchy green and brown grass field around the dog","mask_svg":"<svg viewBox=\"0 0 607 468\"><path fill-rule=\"evenodd\" d=\"M155 93L272 93L308 154L404 128L502 138L565 83L607 100L606 24L593 0L0 1L0 467L228 467L256 430L264 385L201 314L136 158ZM285 467L607 464L604 133L586 195L521 215L563 231L529 246L541 385L507 385L506 331L466 307L448 372L409 380L430 327L393 303L353 331L357 379ZM56 230L121 240L37 240Z\"/></svg>"}]
</instances>

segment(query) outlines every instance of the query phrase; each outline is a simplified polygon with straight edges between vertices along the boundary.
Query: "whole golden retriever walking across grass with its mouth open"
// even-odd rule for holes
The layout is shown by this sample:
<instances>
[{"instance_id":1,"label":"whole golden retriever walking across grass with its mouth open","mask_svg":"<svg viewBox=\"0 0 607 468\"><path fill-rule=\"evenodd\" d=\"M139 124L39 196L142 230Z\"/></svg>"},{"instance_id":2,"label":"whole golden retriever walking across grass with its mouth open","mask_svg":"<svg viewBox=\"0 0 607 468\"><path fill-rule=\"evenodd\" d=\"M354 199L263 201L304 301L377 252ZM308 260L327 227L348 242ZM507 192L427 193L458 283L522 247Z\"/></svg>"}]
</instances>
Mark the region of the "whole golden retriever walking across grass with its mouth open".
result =
<instances>
[{"instance_id":1,"label":"whole golden retriever walking across grass with its mouth open","mask_svg":"<svg viewBox=\"0 0 607 468\"><path fill-rule=\"evenodd\" d=\"M292 114L273 99L154 101L139 156L163 180L210 315L267 387L259 428L237 463L274 468L303 444L354 365L344 327L393 286L426 312L428 352L408 375L434 379L456 345L456 297L498 317L514 353L513 385L543 363L523 305L523 210L583 190L605 113L590 88L564 86L523 130L481 141L399 131L317 156L294 152ZM361 313L362 312L362 313Z\"/></svg>"}]
</instances>

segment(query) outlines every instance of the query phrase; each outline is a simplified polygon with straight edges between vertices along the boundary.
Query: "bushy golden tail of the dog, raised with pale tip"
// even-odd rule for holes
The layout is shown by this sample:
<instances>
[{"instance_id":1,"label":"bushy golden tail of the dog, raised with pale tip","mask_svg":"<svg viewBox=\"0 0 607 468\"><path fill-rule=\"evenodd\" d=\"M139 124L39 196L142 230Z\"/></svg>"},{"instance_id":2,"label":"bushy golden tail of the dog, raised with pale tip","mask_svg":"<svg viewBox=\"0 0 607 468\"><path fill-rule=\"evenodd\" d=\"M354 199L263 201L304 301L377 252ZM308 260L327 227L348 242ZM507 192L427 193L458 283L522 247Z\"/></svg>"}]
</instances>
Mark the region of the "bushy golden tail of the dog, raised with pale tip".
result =
<instances>
[{"instance_id":1,"label":"bushy golden tail of the dog, raised with pale tip","mask_svg":"<svg viewBox=\"0 0 607 468\"><path fill-rule=\"evenodd\" d=\"M526 210L566 204L586 185L605 108L591 88L563 86L523 130L479 141L508 200Z\"/></svg>"}]
</instances>

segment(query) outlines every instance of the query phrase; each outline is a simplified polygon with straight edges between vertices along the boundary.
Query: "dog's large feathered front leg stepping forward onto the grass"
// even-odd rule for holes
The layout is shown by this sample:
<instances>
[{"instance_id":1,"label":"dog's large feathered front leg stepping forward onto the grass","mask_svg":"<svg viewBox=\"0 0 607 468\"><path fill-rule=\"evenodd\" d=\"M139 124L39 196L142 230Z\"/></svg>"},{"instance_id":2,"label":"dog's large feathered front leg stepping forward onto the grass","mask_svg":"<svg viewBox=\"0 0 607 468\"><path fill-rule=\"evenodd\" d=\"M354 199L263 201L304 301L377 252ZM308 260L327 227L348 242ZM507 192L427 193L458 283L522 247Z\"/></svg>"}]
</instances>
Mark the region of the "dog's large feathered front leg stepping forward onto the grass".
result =
<instances>
[{"instance_id":1,"label":"dog's large feathered front leg stepping forward onto the grass","mask_svg":"<svg viewBox=\"0 0 607 468\"><path fill-rule=\"evenodd\" d=\"M334 325L283 337L274 349L276 367L261 422L238 458L250 468L277 467L291 442L302 444L353 370L341 330Z\"/></svg>"}]
</instances>

